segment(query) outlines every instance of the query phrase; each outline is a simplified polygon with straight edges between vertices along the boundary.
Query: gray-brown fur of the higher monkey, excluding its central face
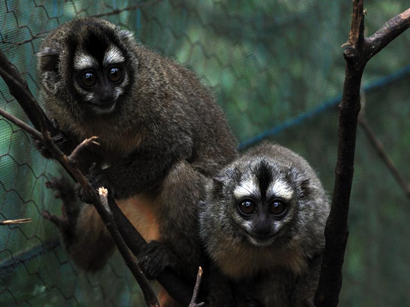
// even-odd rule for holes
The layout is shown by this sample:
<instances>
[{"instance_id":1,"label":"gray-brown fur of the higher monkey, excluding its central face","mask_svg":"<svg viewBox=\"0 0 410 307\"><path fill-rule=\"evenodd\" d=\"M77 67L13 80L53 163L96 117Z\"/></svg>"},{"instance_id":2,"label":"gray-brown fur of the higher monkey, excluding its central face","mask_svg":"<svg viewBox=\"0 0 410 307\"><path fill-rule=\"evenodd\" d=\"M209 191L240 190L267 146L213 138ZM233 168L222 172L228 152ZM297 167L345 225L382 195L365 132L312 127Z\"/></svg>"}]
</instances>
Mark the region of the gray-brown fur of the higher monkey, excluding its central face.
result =
<instances>
[{"instance_id":1,"label":"gray-brown fur of the higher monkey, excluding its central face","mask_svg":"<svg viewBox=\"0 0 410 307\"><path fill-rule=\"evenodd\" d=\"M90 111L75 85L73 57L78 50L87 53L90 39L107 48L115 45L125 58L128 78L118 85L122 94L112 112ZM100 146L82 157L87 167L97 162L87 174L89 181L95 188L114 191L123 203L135 196L135 203L127 204L129 211L138 208L140 198L152 202L145 208L159 227L153 237L186 257L189 270L180 267L184 264L177 269L192 271L195 278L200 256L193 242L197 224L192 221L197 220L196 203L203 197L202 178L213 176L236 156L236 141L212 94L191 71L139 45L130 32L90 17L52 30L40 47L38 68L46 114L76 143L99 138ZM75 235L81 239L71 247L71 256L79 266L96 270L112 250L108 234L88 205L76 225ZM100 243L106 244L103 251L88 248ZM154 254L156 249L160 248L153 243ZM146 253L141 258L148 263L152 257ZM166 265L175 262L168 260Z\"/></svg>"}]
</instances>

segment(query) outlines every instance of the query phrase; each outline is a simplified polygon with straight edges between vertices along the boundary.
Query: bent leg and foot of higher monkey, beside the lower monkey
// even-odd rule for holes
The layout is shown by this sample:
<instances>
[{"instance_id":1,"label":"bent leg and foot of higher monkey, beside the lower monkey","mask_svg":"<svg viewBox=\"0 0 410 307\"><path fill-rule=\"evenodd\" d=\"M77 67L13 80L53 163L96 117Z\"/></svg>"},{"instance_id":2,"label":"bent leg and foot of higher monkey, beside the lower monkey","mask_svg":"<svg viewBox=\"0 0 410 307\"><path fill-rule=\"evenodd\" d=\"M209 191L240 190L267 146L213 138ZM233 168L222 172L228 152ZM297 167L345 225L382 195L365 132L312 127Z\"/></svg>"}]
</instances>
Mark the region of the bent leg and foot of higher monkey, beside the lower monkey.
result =
<instances>
[{"instance_id":1,"label":"bent leg and foot of higher monkey, beside the lower monkey","mask_svg":"<svg viewBox=\"0 0 410 307\"><path fill-rule=\"evenodd\" d=\"M167 173L156 199L160 208L159 239L149 242L138 255L139 266L148 278L156 279L165 269L172 269L193 290L198 267L203 266L197 210L205 181L186 161L174 164ZM166 295L162 297L161 306L175 305Z\"/></svg>"}]
</instances>

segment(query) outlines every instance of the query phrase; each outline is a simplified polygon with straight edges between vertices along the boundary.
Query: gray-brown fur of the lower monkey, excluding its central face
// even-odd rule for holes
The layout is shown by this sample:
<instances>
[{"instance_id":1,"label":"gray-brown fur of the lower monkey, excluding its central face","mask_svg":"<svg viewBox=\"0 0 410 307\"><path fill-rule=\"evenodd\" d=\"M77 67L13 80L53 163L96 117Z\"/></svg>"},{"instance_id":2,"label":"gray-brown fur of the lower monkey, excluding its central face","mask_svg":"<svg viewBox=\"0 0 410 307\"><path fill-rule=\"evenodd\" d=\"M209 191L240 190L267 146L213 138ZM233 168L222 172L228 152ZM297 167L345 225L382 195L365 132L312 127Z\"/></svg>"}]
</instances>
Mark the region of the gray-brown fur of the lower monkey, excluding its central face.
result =
<instances>
[{"instance_id":1,"label":"gray-brown fur of the lower monkey, excluding its central face","mask_svg":"<svg viewBox=\"0 0 410 307\"><path fill-rule=\"evenodd\" d=\"M269 182L260 183L262 175ZM252 190L251 185L243 185L252 178L257 187L281 182L282 192L292 195L286 214L272 220L275 234L267 245L252 243L245 229L255 225L237 210L240 200L235 193ZM245 188L238 190L238 186ZM265 143L226 166L207 185L200 235L227 279L234 285L249 284L254 304L247 305L313 306L329 210L326 193L308 162L288 148Z\"/></svg>"}]
</instances>

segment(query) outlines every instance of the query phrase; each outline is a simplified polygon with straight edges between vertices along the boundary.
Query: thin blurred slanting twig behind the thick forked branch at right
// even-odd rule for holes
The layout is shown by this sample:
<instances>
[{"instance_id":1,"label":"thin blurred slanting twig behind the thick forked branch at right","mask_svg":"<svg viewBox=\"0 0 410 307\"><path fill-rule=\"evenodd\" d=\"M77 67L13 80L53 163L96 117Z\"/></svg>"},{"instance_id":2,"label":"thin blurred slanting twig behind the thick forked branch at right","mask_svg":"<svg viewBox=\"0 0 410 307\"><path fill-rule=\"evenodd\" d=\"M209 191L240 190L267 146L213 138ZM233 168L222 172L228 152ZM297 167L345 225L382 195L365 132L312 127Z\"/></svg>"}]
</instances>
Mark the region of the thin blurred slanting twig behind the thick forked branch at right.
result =
<instances>
[{"instance_id":1,"label":"thin blurred slanting twig behind the thick forked branch at right","mask_svg":"<svg viewBox=\"0 0 410 307\"><path fill-rule=\"evenodd\" d=\"M368 125L367 120L362 116L359 115L359 124L363 128L368 140L372 144L372 146L376 149L379 157L383 160L386 164L389 171L392 173L396 182L400 185L401 189L403 190L404 194L407 198L410 199L410 184L408 184L403 176L401 176L399 170L394 165L392 159L387 154L386 149L384 148L383 144L376 138L372 128Z\"/></svg>"}]
</instances>

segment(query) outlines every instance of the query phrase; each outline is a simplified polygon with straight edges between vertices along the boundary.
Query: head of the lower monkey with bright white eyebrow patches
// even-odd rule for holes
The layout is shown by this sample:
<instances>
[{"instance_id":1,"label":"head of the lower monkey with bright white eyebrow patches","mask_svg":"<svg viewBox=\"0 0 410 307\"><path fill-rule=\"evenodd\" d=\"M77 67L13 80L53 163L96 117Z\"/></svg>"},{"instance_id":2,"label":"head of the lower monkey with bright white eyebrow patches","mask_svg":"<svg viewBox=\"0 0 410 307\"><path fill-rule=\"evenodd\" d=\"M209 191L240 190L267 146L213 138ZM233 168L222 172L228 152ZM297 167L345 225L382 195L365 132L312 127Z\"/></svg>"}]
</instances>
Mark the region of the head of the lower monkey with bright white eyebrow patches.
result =
<instances>
[{"instance_id":1,"label":"head of the lower monkey with bright white eyebrow patches","mask_svg":"<svg viewBox=\"0 0 410 307\"><path fill-rule=\"evenodd\" d=\"M285 244L297 232L305 183L297 170L268 158L237 163L214 180L221 221L231 221L230 235L244 244Z\"/></svg>"}]
</instances>

